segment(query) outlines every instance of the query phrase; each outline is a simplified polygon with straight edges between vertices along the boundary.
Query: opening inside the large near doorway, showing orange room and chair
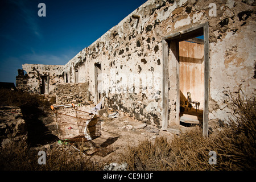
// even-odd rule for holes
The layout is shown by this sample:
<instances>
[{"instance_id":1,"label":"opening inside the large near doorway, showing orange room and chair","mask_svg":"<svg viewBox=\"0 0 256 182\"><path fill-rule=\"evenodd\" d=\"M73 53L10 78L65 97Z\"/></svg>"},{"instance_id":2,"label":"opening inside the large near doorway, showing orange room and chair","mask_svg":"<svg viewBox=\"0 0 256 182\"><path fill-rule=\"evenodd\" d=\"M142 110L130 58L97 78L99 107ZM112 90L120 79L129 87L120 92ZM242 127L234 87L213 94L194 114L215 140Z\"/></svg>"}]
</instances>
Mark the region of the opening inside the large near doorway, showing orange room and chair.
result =
<instances>
[{"instance_id":1,"label":"opening inside the large near doorway, showing orange room and chair","mask_svg":"<svg viewBox=\"0 0 256 182\"><path fill-rule=\"evenodd\" d=\"M203 124L204 109L204 40L179 42L179 125Z\"/></svg>"}]
</instances>

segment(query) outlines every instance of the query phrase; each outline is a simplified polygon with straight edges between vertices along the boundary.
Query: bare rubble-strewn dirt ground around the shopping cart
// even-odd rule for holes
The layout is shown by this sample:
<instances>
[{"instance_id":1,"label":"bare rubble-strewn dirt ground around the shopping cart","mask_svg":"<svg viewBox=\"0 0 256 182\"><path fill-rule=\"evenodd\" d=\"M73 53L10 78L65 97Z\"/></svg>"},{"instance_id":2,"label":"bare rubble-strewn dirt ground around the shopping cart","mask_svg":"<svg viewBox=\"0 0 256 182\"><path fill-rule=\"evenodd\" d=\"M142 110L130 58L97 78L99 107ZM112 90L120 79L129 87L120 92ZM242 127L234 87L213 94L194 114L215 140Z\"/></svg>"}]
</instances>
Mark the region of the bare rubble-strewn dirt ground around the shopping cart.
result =
<instances>
[{"instance_id":1,"label":"bare rubble-strewn dirt ground around the shopping cart","mask_svg":"<svg viewBox=\"0 0 256 182\"><path fill-rule=\"evenodd\" d=\"M90 111L91 106L78 107L79 110ZM75 115L72 107L58 110L60 113L67 115ZM108 114L115 113L108 111ZM79 117L83 118L82 112L79 111ZM104 117L105 116L105 117ZM171 139L174 134L158 129L153 125L142 123L133 117L129 117L125 113L118 113L115 118L110 118L104 115L100 118L101 136L91 140L91 142L73 142L72 150L80 150L84 152L93 161L97 162L118 162L122 160L122 154L128 146L135 146L140 141L148 139L154 142L156 137L164 136ZM53 123L48 123L49 130L52 134L59 135L56 126L54 115L50 120ZM70 145L67 147L71 147Z\"/></svg>"}]
</instances>

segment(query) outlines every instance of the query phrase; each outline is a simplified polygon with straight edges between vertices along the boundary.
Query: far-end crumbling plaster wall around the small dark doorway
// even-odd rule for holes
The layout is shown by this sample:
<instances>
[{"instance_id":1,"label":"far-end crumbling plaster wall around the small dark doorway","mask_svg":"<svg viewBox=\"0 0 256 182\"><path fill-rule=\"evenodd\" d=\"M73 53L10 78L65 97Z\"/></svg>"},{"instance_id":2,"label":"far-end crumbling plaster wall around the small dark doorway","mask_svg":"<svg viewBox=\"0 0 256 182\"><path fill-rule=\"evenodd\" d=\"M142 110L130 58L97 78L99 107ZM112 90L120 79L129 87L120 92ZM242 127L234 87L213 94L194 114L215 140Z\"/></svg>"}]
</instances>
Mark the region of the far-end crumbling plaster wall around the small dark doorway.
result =
<instances>
[{"instance_id":1,"label":"far-end crumbling plaster wall around the small dark doorway","mask_svg":"<svg viewBox=\"0 0 256 182\"><path fill-rule=\"evenodd\" d=\"M27 72L27 91L40 94L40 76L49 76L49 92L55 94L55 85L64 82L64 65L23 64Z\"/></svg>"}]
</instances>

